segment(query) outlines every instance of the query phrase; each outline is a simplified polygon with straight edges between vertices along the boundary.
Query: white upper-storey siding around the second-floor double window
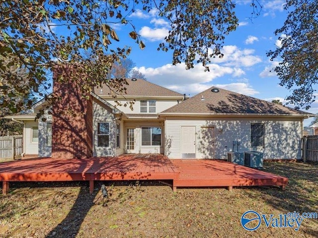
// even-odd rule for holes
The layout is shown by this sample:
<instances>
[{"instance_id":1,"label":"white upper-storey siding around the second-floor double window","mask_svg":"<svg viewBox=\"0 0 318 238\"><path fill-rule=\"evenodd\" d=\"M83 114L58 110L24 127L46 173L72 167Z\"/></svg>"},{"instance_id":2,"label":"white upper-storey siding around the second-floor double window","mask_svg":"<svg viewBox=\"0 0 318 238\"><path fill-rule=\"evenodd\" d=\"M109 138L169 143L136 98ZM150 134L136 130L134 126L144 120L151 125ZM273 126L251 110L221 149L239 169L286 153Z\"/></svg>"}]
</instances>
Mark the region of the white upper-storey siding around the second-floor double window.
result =
<instances>
[{"instance_id":1,"label":"white upper-storey siding around the second-floor double window","mask_svg":"<svg viewBox=\"0 0 318 238\"><path fill-rule=\"evenodd\" d=\"M171 108L172 106L176 105L178 102L176 99L142 99L142 100L156 100L156 114L161 113L162 111ZM140 99L136 100L136 102L133 105L133 111L129 108L129 104L127 101L119 101L122 105L127 104L126 107L124 106L118 106L115 102L115 100L106 100L108 103L113 105L114 107L118 108L120 111L122 111L125 114L139 114L140 113Z\"/></svg>"}]
</instances>

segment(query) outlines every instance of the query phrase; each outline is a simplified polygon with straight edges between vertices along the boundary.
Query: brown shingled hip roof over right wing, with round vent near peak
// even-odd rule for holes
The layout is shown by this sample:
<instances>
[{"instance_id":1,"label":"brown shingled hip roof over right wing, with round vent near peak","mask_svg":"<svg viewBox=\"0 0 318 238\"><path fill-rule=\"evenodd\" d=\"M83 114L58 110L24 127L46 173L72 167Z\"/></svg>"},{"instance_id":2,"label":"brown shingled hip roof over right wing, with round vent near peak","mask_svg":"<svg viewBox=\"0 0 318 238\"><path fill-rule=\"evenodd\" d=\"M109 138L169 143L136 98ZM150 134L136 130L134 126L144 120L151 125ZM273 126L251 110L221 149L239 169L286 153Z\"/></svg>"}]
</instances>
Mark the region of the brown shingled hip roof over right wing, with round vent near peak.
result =
<instances>
[{"instance_id":1,"label":"brown shingled hip roof over right wing, with round vent near peak","mask_svg":"<svg viewBox=\"0 0 318 238\"><path fill-rule=\"evenodd\" d=\"M285 115L311 117L313 114L225 89L212 92L211 87L159 115ZM202 97L204 100L202 100Z\"/></svg>"}]
</instances>

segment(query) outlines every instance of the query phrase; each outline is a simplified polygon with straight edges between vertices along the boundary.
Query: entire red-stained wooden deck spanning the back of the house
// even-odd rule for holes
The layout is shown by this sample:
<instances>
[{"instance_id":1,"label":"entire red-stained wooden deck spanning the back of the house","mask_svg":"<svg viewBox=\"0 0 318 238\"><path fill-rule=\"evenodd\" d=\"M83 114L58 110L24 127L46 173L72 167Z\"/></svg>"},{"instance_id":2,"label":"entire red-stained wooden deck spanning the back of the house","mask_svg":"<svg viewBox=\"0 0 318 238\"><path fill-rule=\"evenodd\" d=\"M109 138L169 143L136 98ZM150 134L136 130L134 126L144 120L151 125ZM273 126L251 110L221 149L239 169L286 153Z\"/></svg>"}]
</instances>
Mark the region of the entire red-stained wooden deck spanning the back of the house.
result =
<instances>
[{"instance_id":1,"label":"entire red-stained wooden deck spanning the back of the house","mask_svg":"<svg viewBox=\"0 0 318 238\"><path fill-rule=\"evenodd\" d=\"M37 158L0 163L2 192L10 181L172 180L172 187L262 186L284 188L288 179L221 160L169 160L163 155L126 154L88 159Z\"/></svg>"}]
</instances>

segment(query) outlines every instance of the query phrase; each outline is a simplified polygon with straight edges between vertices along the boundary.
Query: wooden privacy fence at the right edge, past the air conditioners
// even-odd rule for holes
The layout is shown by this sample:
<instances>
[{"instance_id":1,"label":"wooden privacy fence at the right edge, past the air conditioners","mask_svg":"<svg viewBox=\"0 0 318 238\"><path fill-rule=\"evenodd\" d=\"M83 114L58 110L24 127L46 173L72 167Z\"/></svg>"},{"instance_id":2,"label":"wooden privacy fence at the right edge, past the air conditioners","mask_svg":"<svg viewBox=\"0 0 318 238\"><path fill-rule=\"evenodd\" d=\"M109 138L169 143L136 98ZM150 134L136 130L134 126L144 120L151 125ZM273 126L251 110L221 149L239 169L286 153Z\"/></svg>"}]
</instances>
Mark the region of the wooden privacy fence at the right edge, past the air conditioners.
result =
<instances>
[{"instance_id":1,"label":"wooden privacy fence at the right edge, past the air conditioners","mask_svg":"<svg viewBox=\"0 0 318 238\"><path fill-rule=\"evenodd\" d=\"M302 138L302 159L304 162L318 162L318 135L307 135Z\"/></svg>"}]
</instances>

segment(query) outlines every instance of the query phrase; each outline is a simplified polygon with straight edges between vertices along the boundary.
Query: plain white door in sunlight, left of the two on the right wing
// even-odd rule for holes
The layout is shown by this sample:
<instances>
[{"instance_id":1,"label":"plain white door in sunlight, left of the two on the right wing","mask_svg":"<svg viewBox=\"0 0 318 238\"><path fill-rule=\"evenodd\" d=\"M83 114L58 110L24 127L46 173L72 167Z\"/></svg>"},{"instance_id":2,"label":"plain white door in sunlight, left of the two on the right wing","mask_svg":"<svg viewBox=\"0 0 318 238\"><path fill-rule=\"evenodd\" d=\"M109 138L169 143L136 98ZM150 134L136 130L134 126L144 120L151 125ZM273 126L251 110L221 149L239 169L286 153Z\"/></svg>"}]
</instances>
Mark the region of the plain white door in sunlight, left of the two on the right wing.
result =
<instances>
[{"instance_id":1,"label":"plain white door in sunlight, left of the two on the right wing","mask_svg":"<svg viewBox=\"0 0 318 238\"><path fill-rule=\"evenodd\" d=\"M181 126L181 158L195 159L195 126Z\"/></svg>"}]
</instances>

